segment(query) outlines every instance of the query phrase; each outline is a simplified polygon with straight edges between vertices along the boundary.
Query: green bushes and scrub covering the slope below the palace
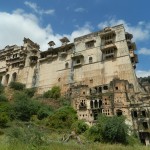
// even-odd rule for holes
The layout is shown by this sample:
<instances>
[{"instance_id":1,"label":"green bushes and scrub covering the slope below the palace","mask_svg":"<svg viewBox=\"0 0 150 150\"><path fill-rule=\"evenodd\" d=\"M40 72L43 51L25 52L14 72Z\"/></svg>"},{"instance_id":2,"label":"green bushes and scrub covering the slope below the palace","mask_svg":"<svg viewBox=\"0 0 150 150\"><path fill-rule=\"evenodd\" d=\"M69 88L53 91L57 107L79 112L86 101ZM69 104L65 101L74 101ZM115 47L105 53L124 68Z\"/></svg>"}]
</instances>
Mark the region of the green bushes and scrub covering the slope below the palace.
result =
<instances>
[{"instance_id":1,"label":"green bushes and scrub covering the slope below the palace","mask_svg":"<svg viewBox=\"0 0 150 150\"><path fill-rule=\"evenodd\" d=\"M0 138L6 136L10 144L22 143L29 149L42 149L50 145L51 140L63 143L64 131L66 138L74 131L85 144L129 144L131 136L123 117L100 115L97 123L89 127L84 120L78 120L76 111L70 106L71 100L61 96L60 87L55 86L38 98L35 88L26 89L20 83L10 85L14 90L11 101L7 100L9 94L5 94L0 85L0 133L4 133ZM59 103L59 107L47 102ZM132 141L137 143L133 138Z\"/></svg>"}]
</instances>

